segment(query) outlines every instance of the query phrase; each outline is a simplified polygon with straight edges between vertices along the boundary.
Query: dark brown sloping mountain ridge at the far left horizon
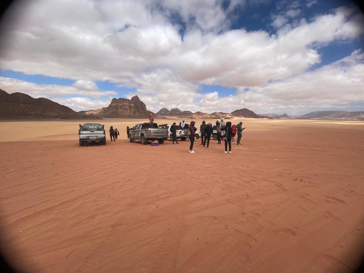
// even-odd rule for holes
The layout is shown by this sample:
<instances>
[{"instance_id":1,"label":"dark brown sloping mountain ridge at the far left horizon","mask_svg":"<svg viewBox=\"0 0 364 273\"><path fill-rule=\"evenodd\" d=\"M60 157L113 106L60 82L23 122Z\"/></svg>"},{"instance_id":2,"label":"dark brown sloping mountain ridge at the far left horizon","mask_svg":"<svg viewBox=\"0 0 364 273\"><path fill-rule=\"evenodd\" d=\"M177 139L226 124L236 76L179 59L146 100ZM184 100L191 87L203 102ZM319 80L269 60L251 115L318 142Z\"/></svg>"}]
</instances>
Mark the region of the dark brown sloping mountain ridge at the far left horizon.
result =
<instances>
[{"instance_id":1,"label":"dark brown sloping mountain ridge at the far left horizon","mask_svg":"<svg viewBox=\"0 0 364 273\"><path fill-rule=\"evenodd\" d=\"M0 89L0 119L80 119L90 118L45 98L23 93L8 94ZM92 115L92 118L98 118Z\"/></svg>"}]
</instances>

